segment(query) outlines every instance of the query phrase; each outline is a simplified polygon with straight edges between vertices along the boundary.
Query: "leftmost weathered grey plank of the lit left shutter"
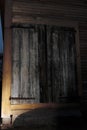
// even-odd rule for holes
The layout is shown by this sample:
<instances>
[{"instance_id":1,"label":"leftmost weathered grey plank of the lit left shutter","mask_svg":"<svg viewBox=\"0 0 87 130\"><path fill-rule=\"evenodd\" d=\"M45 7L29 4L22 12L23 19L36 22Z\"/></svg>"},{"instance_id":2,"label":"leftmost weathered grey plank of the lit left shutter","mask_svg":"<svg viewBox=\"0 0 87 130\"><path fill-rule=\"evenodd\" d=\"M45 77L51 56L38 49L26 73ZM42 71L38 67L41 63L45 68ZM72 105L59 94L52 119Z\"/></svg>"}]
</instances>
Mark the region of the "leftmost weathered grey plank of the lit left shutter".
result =
<instances>
[{"instance_id":1,"label":"leftmost weathered grey plank of the lit left shutter","mask_svg":"<svg viewBox=\"0 0 87 130\"><path fill-rule=\"evenodd\" d=\"M13 42L12 42L12 88L11 96L19 96L19 30L13 29ZM11 101L17 103L18 101Z\"/></svg>"}]
</instances>

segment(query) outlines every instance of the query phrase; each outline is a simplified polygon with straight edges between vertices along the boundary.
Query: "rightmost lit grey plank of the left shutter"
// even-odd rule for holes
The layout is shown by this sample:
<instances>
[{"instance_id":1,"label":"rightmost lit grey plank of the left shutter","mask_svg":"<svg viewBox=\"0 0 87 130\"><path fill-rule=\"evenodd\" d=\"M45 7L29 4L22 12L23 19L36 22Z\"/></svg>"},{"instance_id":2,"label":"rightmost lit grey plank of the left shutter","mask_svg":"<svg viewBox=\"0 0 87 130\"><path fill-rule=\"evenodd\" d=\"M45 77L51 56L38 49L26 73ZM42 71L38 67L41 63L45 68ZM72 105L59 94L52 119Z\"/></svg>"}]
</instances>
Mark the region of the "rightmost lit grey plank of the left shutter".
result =
<instances>
[{"instance_id":1,"label":"rightmost lit grey plank of the left shutter","mask_svg":"<svg viewBox=\"0 0 87 130\"><path fill-rule=\"evenodd\" d=\"M29 37L29 82L30 96L35 100L31 103L39 102L39 72L38 72L38 34L34 29L30 29Z\"/></svg>"}]
</instances>

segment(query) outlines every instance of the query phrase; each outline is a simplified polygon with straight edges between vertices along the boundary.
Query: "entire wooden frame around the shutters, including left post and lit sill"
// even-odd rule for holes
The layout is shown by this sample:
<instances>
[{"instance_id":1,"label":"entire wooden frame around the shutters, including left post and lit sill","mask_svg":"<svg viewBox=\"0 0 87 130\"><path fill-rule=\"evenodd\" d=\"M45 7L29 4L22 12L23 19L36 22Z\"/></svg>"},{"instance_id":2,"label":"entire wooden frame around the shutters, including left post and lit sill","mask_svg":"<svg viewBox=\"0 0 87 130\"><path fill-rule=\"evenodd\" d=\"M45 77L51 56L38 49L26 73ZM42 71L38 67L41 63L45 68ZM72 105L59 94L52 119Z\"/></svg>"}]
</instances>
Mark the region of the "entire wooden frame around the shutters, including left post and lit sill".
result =
<instances>
[{"instance_id":1,"label":"entire wooden frame around the shutters, including left post and lit sill","mask_svg":"<svg viewBox=\"0 0 87 130\"><path fill-rule=\"evenodd\" d=\"M8 12L8 15L7 15ZM3 57L3 81L2 81L2 108L1 108L1 116L3 118L4 123L10 123L10 116L13 115L14 119L17 115L26 112L35 108L42 107L60 107L66 104L55 104L55 103L38 103L38 104L20 104L20 105L12 105L10 103L10 95L11 95L11 70L12 70L12 62L11 62L11 36L12 36L12 23L22 23L22 20L14 20L12 19L12 0L5 1L5 17L4 17L4 57ZM29 24L51 24L58 25L63 27L73 27L76 30L75 34L75 42L76 42L76 55L77 55L77 80L78 80L78 93L79 96L82 96L82 81L81 81L81 65L80 65L80 45L79 45L79 28L78 23L73 21L63 21L58 19L37 19L36 21L32 18L32 20L23 20L24 23ZM72 104L71 104L72 105ZM74 104L75 105L75 104Z\"/></svg>"}]
</instances>

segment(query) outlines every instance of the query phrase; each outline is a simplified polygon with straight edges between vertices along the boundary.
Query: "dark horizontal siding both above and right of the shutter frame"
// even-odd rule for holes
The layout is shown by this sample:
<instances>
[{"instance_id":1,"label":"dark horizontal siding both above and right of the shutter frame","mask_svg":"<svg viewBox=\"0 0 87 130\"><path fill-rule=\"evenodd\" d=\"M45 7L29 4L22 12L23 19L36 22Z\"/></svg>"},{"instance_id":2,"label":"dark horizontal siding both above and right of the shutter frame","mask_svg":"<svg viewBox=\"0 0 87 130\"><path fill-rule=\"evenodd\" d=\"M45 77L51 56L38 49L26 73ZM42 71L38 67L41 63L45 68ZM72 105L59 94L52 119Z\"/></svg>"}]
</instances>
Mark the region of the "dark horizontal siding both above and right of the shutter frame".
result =
<instances>
[{"instance_id":1,"label":"dark horizontal siding both above and right of the shutter frame","mask_svg":"<svg viewBox=\"0 0 87 130\"><path fill-rule=\"evenodd\" d=\"M82 85L87 95L87 1L14 0L12 10L13 22L37 22L45 19L56 21L58 19L78 23Z\"/></svg>"}]
</instances>

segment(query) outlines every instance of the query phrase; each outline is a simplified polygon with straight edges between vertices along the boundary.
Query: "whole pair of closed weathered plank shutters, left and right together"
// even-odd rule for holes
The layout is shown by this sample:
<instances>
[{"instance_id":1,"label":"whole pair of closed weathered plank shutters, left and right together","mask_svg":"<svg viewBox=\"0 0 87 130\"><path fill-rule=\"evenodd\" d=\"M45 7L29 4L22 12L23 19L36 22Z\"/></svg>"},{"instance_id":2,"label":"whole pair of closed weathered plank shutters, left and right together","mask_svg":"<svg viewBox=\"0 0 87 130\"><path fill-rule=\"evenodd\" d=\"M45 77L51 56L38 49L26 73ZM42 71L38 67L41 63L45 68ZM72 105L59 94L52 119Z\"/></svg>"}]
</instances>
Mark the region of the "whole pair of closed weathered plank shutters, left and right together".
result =
<instances>
[{"instance_id":1,"label":"whole pair of closed weathered plank shutters, left and right together","mask_svg":"<svg viewBox=\"0 0 87 130\"><path fill-rule=\"evenodd\" d=\"M11 104L75 97L75 31L47 25L14 27Z\"/></svg>"}]
</instances>

